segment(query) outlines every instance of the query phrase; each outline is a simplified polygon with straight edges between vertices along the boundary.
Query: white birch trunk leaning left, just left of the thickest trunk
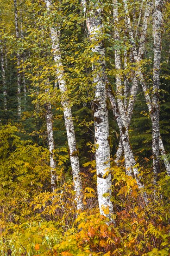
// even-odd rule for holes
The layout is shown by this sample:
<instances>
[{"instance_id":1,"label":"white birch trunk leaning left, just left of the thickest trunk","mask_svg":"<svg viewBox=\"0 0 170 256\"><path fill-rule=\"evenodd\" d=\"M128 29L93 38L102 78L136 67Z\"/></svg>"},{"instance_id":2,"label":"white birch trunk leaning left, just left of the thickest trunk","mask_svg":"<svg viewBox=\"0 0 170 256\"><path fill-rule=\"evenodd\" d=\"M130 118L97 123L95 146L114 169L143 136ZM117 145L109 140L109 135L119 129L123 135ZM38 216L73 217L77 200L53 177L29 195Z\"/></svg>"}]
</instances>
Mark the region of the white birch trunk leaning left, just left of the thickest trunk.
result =
<instances>
[{"instance_id":1,"label":"white birch trunk leaning left, just left of the thickest trunk","mask_svg":"<svg viewBox=\"0 0 170 256\"><path fill-rule=\"evenodd\" d=\"M50 1L45 0L47 10L50 13ZM59 88L62 94L62 106L63 106L63 114L64 114L64 121L65 127L67 131L67 139L69 144L69 154L70 154L70 162L72 168L72 175L73 175L73 182L74 182L74 190L76 192L76 202L77 202L77 209L83 209L83 194L82 194L82 180L80 176L80 165L79 165L79 158L78 158L78 149L76 147L76 136L75 130L73 125L72 113L71 108L69 106L69 101L67 98L67 85L64 76L64 68L62 63L61 57L61 50L59 45L59 35L57 30L53 27L50 29L51 34L51 42L52 42L52 49L54 55L54 61L57 64L57 80L59 84Z\"/></svg>"}]
</instances>

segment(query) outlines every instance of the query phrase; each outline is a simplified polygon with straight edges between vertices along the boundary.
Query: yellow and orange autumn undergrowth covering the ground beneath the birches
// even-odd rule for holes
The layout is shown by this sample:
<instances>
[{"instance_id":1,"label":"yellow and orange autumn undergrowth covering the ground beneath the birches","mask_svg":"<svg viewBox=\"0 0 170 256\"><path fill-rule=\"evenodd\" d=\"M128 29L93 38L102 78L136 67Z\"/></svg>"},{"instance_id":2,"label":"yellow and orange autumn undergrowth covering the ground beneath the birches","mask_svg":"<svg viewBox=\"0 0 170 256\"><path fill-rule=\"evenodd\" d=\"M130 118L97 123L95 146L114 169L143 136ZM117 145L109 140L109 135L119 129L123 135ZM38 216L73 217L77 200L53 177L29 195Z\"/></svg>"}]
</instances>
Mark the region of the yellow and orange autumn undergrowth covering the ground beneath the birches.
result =
<instances>
[{"instance_id":1,"label":"yellow and orange autumn undergrowth covering the ground beneath the birches","mask_svg":"<svg viewBox=\"0 0 170 256\"><path fill-rule=\"evenodd\" d=\"M29 256L168 256L170 254L170 178L160 175L153 188L147 183L148 204L135 179L112 167L114 222L99 214L95 195L95 165L83 170L85 209L78 212L71 181L59 177L54 193L44 190L49 168L44 149L20 140L17 128L3 127L0 195L0 253ZM1 130L2 131L2 130ZM13 147L12 147L13 145ZM27 150L29 147L29 150ZM28 152L31 152L30 156ZM2 154L2 153L1 153ZM25 159L26 154L26 159ZM15 164L12 156L15 156ZM22 162L21 162L22 159ZM19 163L19 164L18 164ZM42 165L43 164L43 165ZM10 176L5 175L5 169ZM21 166L21 168L19 168ZM39 167L38 167L39 166ZM90 167L89 167L90 166ZM32 173L34 170L34 173ZM90 180L89 174L90 172ZM142 173L141 173L142 175ZM10 177L10 178L9 178ZM43 180L41 179L43 178ZM151 174L148 171L148 178ZM31 183L33 182L34 183ZM90 187L91 186L91 187ZM152 191L155 190L153 195Z\"/></svg>"}]
</instances>

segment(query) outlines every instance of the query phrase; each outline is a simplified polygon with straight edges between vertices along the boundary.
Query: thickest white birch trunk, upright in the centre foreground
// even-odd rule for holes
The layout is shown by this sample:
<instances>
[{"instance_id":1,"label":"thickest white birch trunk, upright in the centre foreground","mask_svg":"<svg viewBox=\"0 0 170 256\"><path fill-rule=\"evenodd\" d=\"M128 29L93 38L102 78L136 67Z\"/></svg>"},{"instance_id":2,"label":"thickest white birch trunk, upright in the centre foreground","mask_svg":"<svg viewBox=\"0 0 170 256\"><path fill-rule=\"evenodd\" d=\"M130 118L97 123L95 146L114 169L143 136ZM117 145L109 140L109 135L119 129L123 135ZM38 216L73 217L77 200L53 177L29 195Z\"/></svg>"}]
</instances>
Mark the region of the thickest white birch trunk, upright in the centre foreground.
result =
<instances>
[{"instance_id":1,"label":"thickest white birch trunk, upright in the centre foreground","mask_svg":"<svg viewBox=\"0 0 170 256\"><path fill-rule=\"evenodd\" d=\"M93 53L100 56L99 66L93 66L96 69L93 83L95 86L95 98L93 101L94 110L94 135L95 135L95 160L97 168L97 191L98 202L101 215L109 217L112 220L113 204L111 202L112 179L110 172L110 147L108 111L107 111L107 91L105 78L105 49L103 41L100 39L103 35L103 25L101 21L101 4L96 1L92 3L92 9L87 17L87 27L90 40L94 44ZM86 2L82 2L83 9L86 10Z\"/></svg>"}]
</instances>

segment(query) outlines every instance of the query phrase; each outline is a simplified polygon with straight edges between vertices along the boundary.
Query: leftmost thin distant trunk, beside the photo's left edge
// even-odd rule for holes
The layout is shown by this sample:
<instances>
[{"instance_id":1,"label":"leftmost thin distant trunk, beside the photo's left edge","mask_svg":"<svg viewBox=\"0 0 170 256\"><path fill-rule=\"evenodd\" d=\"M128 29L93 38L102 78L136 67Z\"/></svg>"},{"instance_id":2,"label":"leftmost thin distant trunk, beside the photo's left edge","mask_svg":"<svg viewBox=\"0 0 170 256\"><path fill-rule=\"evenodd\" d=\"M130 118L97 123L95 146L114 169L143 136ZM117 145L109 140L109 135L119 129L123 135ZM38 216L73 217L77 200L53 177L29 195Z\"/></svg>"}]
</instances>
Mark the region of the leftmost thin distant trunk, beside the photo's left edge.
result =
<instances>
[{"instance_id":1,"label":"leftmost thin distant trunk, beside the photo's left edge","mask_svg":"<svg viewBox=\"0 0 170 256\"><path fill-rule=\"evenodd\" d=\"M7 111L6 74L5 74L5 66L4 66L4 53L3 53L3 47L2 47L1 41L0 41L0 57L1 57L1 71L2 71L4 110Z\"/></svg>"}]
</instances>

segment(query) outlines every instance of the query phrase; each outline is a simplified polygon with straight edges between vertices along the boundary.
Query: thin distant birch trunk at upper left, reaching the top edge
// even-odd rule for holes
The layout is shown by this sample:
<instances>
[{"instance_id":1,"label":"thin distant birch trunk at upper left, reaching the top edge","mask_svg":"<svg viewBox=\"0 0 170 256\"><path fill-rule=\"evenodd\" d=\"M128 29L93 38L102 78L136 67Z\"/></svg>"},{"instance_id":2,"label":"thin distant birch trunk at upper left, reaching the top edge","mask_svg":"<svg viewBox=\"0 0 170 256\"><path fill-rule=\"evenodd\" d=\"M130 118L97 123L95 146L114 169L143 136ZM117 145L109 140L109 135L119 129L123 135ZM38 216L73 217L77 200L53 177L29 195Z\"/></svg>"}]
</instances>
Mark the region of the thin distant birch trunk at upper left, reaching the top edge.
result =
<instances>
[{"instance_id":1,"label":"thin distant birch trunk at upper left, reaching the top edge","mask_svg":"<svg viewBox=\"0 0 170 256\"><path fill-rule=\"evenodd\" d=\"M18 10L17 0L14 0L14 13L15 13L15 34L17 40L19 40L19 25L18 25ZM17 99L18 99L18 119L21 118L21 74L20 74L20 54L17 52Z\"/></svg>"}]
</instances>

